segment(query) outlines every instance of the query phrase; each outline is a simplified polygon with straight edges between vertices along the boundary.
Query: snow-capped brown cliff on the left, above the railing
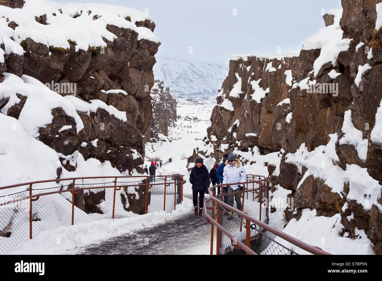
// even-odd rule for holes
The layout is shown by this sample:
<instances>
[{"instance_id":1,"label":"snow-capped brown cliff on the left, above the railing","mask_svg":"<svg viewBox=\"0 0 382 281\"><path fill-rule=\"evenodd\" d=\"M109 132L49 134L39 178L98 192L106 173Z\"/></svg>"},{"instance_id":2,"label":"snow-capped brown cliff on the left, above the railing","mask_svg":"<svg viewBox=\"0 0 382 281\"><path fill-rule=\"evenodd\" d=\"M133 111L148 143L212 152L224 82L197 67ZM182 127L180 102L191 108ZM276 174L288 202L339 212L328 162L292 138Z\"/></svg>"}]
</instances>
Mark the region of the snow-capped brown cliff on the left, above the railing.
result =
<instances>
[{"instance_id":1,"label":"snow-capped brown cliff on the left, above the railing","mask_svg":"<svg viewBox=\"0 0 382 281\"><path fill-rule=\"evenodd\" d=\"M68 100L84 128L78 132L74 119L58 105L52 108L52 122L40 127L37 137L62 155L66 169L76 169L79 152L85 159L110 161L121 172L132 171L143 164L142 135L151 127L152 67L160 45L152 33L155 24L134 9L44 3L1 1L5 32L0 72L29 75L61 96L75 96ZM40 4L41 15L35 16ZM30 26L34 29L28 37ZM12 97L0 101L2 113L16 119L28 104L23 91L17 96L19 102ZM95 104L98 106L90 106ZM117 118L120 114L122 118ZM60 130L64 126L70 128ZM137 170L143 173L141 168Z\"/></svg>"}]
</instances>

